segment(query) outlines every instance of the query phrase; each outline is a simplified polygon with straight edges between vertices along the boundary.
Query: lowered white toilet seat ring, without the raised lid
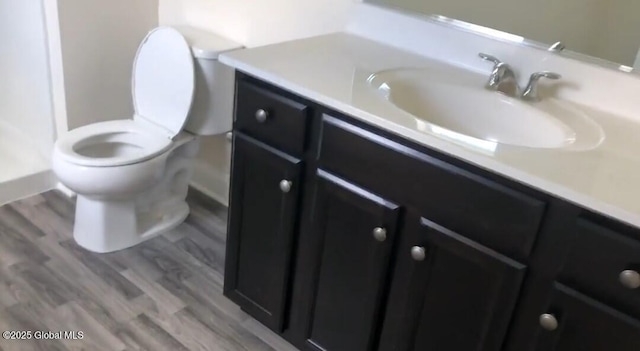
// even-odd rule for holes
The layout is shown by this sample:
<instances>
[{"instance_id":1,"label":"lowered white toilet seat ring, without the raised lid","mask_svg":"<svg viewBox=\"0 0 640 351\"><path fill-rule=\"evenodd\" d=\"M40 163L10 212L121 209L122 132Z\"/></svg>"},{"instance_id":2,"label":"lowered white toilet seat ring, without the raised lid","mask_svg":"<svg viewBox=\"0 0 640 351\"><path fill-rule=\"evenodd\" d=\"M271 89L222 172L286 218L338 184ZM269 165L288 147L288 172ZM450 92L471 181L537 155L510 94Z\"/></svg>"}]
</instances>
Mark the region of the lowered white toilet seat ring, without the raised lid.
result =
<instances>
[{"instance_id":1,"label":"lowered white toilet seat ring, without the raised lid","mask_svg":"<svg viewBox=\"0 0 640 351\"><path fill-rule=\"evenodd\" d=\"M134 120L99 122L67 132L55 150L61 159L87 167L140 163L171 147L166 135Z\"/></svg>"}]
</instances>

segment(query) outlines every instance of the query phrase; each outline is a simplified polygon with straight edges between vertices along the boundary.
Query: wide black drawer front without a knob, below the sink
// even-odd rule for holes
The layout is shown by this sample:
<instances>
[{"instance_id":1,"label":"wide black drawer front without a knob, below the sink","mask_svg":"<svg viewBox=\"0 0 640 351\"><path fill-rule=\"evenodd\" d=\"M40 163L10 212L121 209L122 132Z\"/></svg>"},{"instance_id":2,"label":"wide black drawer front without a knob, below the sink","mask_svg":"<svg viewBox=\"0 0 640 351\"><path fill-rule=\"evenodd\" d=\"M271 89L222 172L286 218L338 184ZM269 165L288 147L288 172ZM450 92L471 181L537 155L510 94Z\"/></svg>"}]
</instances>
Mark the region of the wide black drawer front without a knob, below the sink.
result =
<instances>
[{"instance_id":1,"label":"wide black drawer front without a knob, below the sink","mask_svg":"<svg viewBox=\"0 0 640 351\"><path fill-rule=\"evenodd\" d=\"M322 123L321 168L512 258L529 256L544 201L335 117Z\"/></svg>"}]
</instances>

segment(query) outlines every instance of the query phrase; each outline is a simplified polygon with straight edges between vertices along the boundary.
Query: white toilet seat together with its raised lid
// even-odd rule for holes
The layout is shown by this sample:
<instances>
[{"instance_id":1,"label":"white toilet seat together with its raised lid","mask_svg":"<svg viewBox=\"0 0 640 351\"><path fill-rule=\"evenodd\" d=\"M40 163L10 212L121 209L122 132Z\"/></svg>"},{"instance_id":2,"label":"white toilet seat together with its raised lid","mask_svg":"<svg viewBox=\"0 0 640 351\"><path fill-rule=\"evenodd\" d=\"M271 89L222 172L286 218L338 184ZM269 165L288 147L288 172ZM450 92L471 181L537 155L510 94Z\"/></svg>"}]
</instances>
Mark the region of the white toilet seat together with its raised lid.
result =
<instances>
[{"instance_id":1,"label":"white toilet seat together with its raised lid","mask_svg":"<svg viewBox=\"0 0 640 351\"><path fill-rule=\"evenodd\" d=\"M54 152L87 167L143 162L168 150L187 122L195 90L191 48L171 27L147 34L136 53L131 120L93 123L65 133Z\"/></svg>"}]
</instances>

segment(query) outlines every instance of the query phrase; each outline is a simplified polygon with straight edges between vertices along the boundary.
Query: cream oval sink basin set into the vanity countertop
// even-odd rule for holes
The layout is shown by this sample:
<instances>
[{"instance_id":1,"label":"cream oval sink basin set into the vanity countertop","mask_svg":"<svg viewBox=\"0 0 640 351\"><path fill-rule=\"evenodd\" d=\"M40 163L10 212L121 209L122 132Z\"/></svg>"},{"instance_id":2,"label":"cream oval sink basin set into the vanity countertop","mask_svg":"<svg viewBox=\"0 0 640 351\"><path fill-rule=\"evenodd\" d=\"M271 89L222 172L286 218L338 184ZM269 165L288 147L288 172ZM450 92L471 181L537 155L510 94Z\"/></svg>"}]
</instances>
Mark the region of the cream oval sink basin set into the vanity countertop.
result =
<instances>
[{"instance_id":1,"label":"cream oval sink basin set into the vanity countertop","mask_svg":"<svg viewBox=\"0 0 640 351\"><path fill-rule=\"evenodd\" d=\"M604 138L602 129L569 103L525 102L486 90L486 77L463 72L398 69L368 81L381 98L414 118L416 129L476 146L585 149Z\"/></svg>"}]
</instances>

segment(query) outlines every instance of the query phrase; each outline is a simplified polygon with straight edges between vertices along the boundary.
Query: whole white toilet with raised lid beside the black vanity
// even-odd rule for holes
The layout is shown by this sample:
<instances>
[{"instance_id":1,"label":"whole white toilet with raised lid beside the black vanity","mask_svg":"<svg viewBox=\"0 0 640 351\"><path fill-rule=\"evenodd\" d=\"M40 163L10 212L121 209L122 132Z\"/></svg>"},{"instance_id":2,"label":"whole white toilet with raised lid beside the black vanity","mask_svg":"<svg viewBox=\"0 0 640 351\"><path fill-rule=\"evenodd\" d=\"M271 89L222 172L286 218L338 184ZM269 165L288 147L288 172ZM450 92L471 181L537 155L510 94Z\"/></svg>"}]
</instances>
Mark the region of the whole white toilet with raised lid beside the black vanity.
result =
<instances>
[{"instance_id":1,"label":"whole white toilet with raised lid beside the black vanity","mask_svg":"<svg viewBox=\"0 0 640 351\"><path fill-rule=\"evenodd\" d=\"M58 138L53 172L77 194L73 237L80 246L117 251L184 221L198 137L231 130L233 70L217 57L240 47L194 28L155 28L133 64L133 118Z\"/></svg>"}]
</instances>

